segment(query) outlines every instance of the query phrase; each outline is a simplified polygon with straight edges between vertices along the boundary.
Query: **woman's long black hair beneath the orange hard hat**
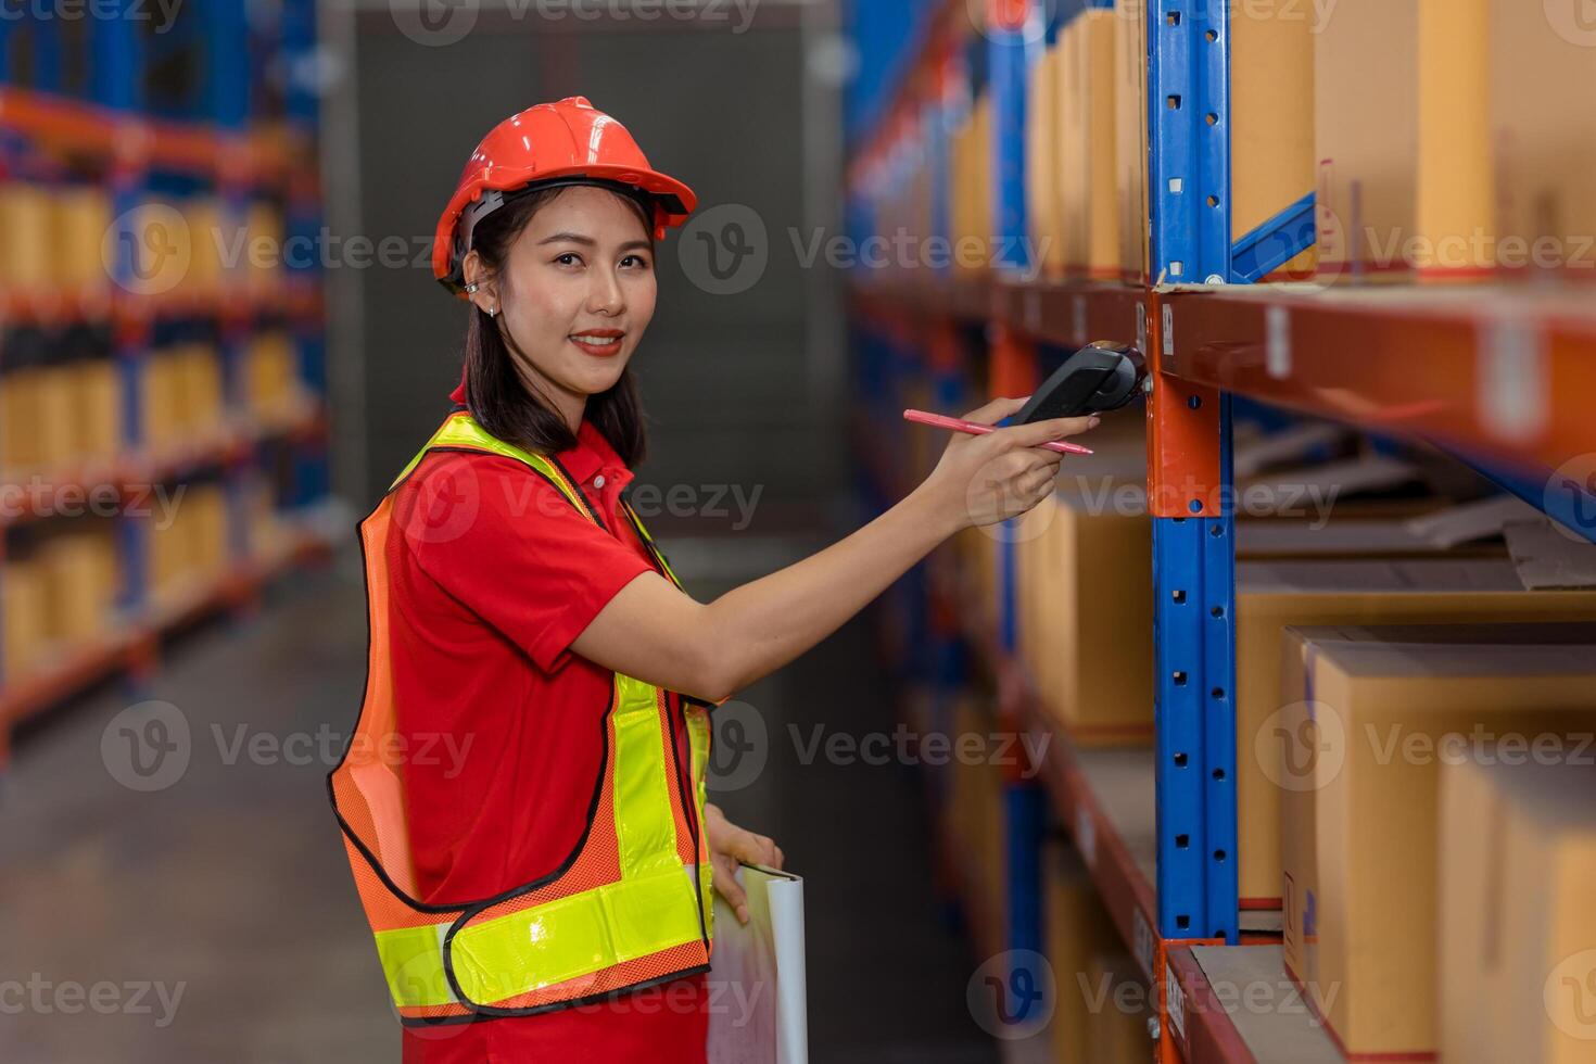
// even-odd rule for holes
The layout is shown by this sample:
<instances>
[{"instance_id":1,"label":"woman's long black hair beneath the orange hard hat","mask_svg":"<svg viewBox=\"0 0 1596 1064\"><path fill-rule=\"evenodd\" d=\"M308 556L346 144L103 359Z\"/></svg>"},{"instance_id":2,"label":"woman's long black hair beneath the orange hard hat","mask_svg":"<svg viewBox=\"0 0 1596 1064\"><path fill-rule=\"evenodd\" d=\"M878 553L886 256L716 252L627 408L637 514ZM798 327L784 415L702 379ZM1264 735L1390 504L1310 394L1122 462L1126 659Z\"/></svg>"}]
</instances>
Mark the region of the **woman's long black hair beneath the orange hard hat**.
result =
<instances>
[{"instance_id":1,"label":"woman's long black hair beneath the orange hard hat","mask_svg":"<svg viewBox=\"0 0 1596 1064\"><path fill-rule=\"evenodd\" d=\"M567 188L570 185L528 191L477 222L471 246L492 274L503 276L516 238L541 207ZM653 244L654 220L648 209L632 196L619 198L637 211ZM471 308L471 324L466 327L466 405L477 424L523 450L555 453L576 445L576 434L565 424L565 418L530 391L516 370L516 353L498 321L477 306ZM606 391L587 397L583 416L592 421L629 467L643 461L648 450L643 407L630 367L621 370L621 380Z\"/></svg>"}]
</instances>

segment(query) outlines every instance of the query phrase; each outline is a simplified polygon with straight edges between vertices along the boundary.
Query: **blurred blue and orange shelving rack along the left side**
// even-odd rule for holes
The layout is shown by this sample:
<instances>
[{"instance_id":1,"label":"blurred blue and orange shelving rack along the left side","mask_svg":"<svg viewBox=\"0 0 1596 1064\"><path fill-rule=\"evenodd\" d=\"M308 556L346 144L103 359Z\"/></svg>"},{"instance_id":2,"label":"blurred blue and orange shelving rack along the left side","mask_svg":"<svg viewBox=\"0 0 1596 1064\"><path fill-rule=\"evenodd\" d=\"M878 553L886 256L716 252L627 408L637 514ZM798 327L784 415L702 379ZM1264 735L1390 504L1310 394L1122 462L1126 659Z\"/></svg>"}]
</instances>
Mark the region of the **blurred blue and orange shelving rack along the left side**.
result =
<instances>
[{"instance_id":1,"label":"blurred blue and orange shelving rack along the left side","mask_svg":"<svg viewBox=\"0 0 1596 1064\"><path fill-rule=\"evenodd\" d=\"M243 217L251 193L270 191L286 204L286 233L313 239L321 227L318 99L311 81L314 2L284 0L267 21L259 18L262 11L246 0L207 0L174 13L177 21L160 33L147 26L155 18L152 5L132 0L109 0L93 5L93 11L18 13L0 21L0 161L26 167L30 161L72 156L88 166L110 191L115 225L123 230L112 234L115 239L137 238L128 212L163 182L212 190L235 219ZM69 27L69 21L77 26ZM177 61L192 64L190 91L158 105L145 89L148 69L184 48L190 53ZM16 85L14 64L24 56L27 86ZM73 65L81 78L67 85L65 70ZM259 121L260 97L268 86L281 89L281 108L270 123ZM93 487L124 498L134 485L184 480L214 469L225 488L231 557L212 585L156 605L145 574L148 528L120 515L120 621L91 644L65 648L46 668L16 678L0 675L0 764L18 721L117 672L137 686L155 665L163 633L217 609L247 611L273 576L324 554L326 536L318 520L329 504L321 286L314 263L290 260L286 266L284 289L271 297L139 295L136 286L124 284L136 268L128 254L117 263L118 284L105 298L0 294L5 333L21 325L107 325L120 376L123 451L91 467L35 471L29 491ZM228 426L217 439L153 451L144 445L139 426L145 356L156 330L187 321L215 327ZM287 329L297 378L310 394L305 410L273 423L239 415L243 349L262 322ZM249 554L244 493L268 458L268 443L286 445L294 469L286 496L278 501L289 534L270 557L260 557ZM8 528L32 517L24 512L0 518L0 562Z\"/></svg>"}]
</instances>

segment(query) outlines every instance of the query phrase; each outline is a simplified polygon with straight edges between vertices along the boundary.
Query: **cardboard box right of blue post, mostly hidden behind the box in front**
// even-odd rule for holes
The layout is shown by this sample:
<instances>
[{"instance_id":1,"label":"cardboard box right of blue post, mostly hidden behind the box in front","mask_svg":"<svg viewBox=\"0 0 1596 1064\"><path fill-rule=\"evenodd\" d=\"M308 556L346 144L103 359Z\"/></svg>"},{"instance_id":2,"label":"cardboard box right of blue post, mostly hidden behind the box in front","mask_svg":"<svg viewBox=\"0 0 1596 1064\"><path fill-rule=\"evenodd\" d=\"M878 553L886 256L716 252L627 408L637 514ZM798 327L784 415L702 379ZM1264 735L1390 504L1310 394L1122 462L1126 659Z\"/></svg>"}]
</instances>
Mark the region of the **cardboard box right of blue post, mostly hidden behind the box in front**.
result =
<instances>
[{"instance_id":1,"label":"cardboard box right of blue post, mostly hidden behind the box in front","mask_svg":"<svg viewBox=\"0 0 1596 1064\"><path fill-rule=\"evenodd\" d=\"M1248 908L1280 904L1278 758L1288 625L1468 624L1596 619L1596 592L1526 592L1510 562L1240 562L1235 566L1237 874Z\"/></svg>"}]
</instances>

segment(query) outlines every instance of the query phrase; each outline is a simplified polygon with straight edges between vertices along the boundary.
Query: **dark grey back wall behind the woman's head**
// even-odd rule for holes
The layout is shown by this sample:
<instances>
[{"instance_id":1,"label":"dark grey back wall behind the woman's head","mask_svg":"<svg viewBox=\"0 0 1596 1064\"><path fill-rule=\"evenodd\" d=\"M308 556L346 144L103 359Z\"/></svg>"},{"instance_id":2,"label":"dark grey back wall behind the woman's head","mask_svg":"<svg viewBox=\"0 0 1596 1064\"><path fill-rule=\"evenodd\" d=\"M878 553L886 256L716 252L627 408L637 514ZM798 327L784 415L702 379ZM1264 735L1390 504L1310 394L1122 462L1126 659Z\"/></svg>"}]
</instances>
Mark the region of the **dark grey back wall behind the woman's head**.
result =
<instances>
[{"instance_id":1,"label":"dark grey back wall behind the woman's head","mask_svg":"<svg viewBox=\"0 0 1596 1064\"><path fill-rule=\"evenodd\" d=\"M824 504L841 469L832 413L839 404L812 388L806 278L788 236L804 225L796 18L761 16L742 33L573 33L484 18L448 46L412 41L381 11L359 14L353 29L359 215L343 225L372 239L404 234L426 247L480 136L522 107L573 94L621 118L654 166L699 195L701 214L729 203L760 214L769 266L737 295L710 295L683 274L680 233L661 244L659 309L634 361L651 423L638 482L758 487L755 531ZM364 316L365 469L345 490L364 509L447 408L464 311L426 268L350 273ZM683 531L712 533L713 523Z\"/></svg>"}]
</instances>

